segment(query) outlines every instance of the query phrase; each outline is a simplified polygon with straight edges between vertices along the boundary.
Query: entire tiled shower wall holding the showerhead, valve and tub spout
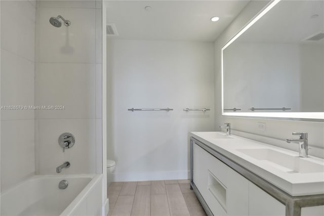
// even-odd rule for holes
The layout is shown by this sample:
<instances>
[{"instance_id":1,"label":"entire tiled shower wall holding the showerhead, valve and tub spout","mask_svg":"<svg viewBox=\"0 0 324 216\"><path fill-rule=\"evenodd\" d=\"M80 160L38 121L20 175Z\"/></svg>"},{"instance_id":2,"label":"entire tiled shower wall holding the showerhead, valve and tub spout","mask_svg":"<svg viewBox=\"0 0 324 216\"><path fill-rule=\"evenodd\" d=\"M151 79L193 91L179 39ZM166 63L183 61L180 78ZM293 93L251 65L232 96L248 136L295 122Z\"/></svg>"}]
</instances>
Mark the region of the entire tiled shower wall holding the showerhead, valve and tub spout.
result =
<instances>
[{"instance_id":1,"label":"entire tiled shower wall holding the showerhead, valve and tub spout","mask_svg":"<svg viewBox=\"0 0 324 216\"><path fill-rule=\"evenodd\" d=\"M101 7L101 6L100 6ZM39 1L36 23L35 105L64 105L65 110L35 112L36 173L102 173L101 8L96 1ZM71 25L49 23L61 15ZM65 152L63 132L75 136Z\"/></svg>"}]
</instances>

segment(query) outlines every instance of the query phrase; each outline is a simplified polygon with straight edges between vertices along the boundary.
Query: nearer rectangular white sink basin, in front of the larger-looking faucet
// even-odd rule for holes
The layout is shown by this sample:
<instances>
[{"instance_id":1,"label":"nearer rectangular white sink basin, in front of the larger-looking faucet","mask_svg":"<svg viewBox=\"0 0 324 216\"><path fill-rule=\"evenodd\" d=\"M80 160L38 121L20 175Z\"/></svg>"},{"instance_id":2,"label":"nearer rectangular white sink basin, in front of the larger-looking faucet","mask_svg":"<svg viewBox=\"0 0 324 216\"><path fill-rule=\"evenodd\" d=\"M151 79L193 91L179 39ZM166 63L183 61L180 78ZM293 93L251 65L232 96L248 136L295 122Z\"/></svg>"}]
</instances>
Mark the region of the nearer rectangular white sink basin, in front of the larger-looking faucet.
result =
<instances>
[{"instance_id":1,"label":"nearer rectangular white sink basin, in front of the larger-looking faucet","mask_svg":"<svg viewBox=\"0 0 324 216\"><path fill-rule=\"evenodd\" d=\"M236 149L236 151L287 173L324 172L324 165L272 149Z\"/></svg>"}]
</instances>

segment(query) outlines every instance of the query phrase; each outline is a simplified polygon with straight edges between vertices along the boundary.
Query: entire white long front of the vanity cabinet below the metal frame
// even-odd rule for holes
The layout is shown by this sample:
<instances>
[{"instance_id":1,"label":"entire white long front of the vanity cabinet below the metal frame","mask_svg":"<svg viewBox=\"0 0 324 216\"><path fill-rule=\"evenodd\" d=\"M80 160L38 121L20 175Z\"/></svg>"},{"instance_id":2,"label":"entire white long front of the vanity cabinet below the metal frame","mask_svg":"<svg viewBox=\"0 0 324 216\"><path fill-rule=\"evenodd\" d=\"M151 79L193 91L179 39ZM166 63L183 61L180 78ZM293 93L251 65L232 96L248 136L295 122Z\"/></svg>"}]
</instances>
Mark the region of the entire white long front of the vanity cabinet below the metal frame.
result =
<instances>
[{"instance_id":1,"label":"entire white long front of the vanity cabinet below the metal frame","mask_svg":"<svg viewBox=\"0 0 324 216\"><path fill-rule=\"evenodd\" d=\"M216 157L193 145L193 182L214 215L285 215L286 207Z\"/></svg>"}]
</instances>

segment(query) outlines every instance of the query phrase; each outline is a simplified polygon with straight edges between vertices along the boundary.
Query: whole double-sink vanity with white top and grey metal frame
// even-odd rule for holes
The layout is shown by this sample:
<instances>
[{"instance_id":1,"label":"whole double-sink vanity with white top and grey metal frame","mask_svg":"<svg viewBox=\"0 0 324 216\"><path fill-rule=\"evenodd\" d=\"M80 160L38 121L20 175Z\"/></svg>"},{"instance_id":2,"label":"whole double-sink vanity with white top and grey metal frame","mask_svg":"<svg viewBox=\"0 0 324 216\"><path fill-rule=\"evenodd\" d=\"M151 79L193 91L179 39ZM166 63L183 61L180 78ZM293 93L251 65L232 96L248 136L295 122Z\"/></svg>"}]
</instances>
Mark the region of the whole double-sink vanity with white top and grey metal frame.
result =
<instances>
[{"instance_id":1,"label":"whole double-sink vanity with white top and grey metal frame","mask_svg":"<svg viewBox=\"0 0 324 216\"><path fill-rule=\"evenodd\" d=\"M223 132L191 132L190 171L209 215L323 215L320 158Z\"/></svg>"}]
</instances>

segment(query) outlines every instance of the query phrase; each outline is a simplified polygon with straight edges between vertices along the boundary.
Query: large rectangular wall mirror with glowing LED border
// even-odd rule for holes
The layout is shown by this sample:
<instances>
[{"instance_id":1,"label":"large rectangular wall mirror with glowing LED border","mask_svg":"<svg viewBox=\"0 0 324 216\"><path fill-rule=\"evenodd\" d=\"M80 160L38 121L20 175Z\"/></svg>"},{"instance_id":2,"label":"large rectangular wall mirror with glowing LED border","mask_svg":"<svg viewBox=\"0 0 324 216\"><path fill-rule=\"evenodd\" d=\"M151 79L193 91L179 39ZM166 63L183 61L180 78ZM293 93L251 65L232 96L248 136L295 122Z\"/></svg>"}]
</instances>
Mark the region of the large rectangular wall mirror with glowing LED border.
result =
<instances>
[{"instance_id":1,"label":"large rectangular wall mirror with glowing LED border","mask_svg":"<svg viewBox=\"0 0 324 216\"><path fill-rule=\"evenodd\" d=\"M272 1L222 48L222 114L324 119L324 2Z\"/></svg>"}]
</instances>

